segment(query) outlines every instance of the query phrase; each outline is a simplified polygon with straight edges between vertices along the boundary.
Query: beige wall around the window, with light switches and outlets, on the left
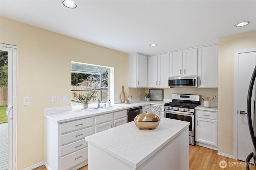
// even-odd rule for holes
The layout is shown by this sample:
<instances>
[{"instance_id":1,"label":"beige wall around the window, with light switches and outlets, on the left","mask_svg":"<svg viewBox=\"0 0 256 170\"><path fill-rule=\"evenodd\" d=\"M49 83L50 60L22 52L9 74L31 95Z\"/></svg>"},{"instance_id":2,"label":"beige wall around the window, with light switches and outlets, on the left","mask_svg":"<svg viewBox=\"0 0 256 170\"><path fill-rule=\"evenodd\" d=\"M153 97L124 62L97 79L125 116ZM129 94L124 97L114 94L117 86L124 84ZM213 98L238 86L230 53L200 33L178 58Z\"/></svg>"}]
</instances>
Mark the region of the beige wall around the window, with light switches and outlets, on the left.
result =
<instances>
[{"instance_id":1,"label":"beige wall around the window, with light switches and outlets, on the left","mask_svg":"<svg viewBox=\"0 0 256 170\"><path fill-rule=\"evenodd\" d=\"M122 85L130 95L136 91L128 89L128 54L126 53L2 17L0 43L18 47L18 170L44 161L43 109L71 105L71 61L114 67L115 80L112 94L116 92L120 94ZM68 102L62 102L63 95L68 96ZM52 96L57 96L56 103L51 103ZM24 97L30 97L29 106L23 106ZM114 97L114 100L120 100L120 97Z\"/></svg>"}]
</instances>

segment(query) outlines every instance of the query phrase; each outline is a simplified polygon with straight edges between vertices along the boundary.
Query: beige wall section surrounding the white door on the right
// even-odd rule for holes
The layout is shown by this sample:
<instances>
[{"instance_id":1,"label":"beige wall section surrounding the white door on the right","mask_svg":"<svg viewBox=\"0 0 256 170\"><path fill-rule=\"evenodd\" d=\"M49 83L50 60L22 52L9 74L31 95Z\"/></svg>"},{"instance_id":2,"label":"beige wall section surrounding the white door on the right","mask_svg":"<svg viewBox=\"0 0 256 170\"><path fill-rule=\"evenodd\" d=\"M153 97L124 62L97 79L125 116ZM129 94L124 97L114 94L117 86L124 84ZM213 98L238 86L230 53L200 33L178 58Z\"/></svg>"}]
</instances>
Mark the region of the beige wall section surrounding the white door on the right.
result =
<instances>
[{"instance_id":1,"label":"beige wall section surrounding the white door on the right","mask_svg":"<svg viewBox=\"0 0 256 170\"><path fill-rule=\"evenodd\" d=\"M256 31L219 38L218 152L233 155L234 51L256 48Z\"/></svg>"}]
</instances>

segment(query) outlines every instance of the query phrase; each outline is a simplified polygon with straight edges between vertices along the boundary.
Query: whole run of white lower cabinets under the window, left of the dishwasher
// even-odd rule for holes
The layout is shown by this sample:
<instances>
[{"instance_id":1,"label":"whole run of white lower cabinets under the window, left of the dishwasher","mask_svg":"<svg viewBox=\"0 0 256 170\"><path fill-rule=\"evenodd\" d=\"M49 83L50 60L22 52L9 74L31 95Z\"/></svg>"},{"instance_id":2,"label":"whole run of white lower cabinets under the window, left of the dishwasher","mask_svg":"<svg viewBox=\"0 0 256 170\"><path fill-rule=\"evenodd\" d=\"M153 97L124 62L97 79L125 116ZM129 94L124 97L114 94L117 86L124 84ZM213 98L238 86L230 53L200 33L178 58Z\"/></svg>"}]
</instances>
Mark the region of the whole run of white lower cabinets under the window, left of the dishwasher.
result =
<instances>
[{"instance_id":1,"label":"whole run of white lower cabinets under the window, left of the dishwasher","mask_svg":"<svg viewBox=\"0 0 256 170\"><path fill-rule=\"evenodd\" d=\"M84 137L126 123L126 109L65 123L44 117L44 162L48 170L76 170L88 164Z\"/></svg>"}]
</instances>

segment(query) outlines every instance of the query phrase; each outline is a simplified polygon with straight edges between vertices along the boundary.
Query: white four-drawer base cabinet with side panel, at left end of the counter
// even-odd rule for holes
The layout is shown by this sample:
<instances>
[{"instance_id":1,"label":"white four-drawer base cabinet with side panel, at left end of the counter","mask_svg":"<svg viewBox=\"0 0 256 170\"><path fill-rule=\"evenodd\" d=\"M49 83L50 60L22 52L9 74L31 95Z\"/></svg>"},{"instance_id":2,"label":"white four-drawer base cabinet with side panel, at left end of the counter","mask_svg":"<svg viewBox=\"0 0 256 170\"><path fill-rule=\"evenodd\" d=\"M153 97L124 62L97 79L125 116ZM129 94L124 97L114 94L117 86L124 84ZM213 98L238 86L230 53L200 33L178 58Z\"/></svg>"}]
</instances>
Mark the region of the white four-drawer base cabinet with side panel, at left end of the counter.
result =
<instances>
[{"instance_id":1,"label":"white four-drawer base cabinet with side panel, at left end of the counter","mask_svg":"<svg viewBox=\"0 0 256 170\"><path fill-rule=\"evenodd\" d=\"M49 170L78 169L88 162L88 143L93 117L66 123L44 119L44 162Z\"/></svg>"}]
</instances>

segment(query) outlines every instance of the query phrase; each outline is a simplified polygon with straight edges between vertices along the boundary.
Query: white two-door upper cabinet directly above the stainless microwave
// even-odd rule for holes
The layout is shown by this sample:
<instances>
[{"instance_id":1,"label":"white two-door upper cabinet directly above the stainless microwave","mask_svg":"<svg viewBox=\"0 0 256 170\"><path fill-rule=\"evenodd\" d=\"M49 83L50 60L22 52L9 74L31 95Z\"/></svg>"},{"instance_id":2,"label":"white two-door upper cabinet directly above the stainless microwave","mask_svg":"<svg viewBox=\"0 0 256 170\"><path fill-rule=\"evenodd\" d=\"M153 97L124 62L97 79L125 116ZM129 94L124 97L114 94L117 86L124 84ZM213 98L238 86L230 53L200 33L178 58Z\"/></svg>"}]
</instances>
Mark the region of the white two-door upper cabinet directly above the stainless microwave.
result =
<instances>
[{"instance_id":1,"label":"white two-door upper cabinet directly above the stainless microwave","mask_svg":"<svg viewBox=\"0 0 256 170\"><path fill-rule=\"evenodd\" d=\"M170 77L197 76L197 48L170 53Z\"/></svg>"}]
</instances>

